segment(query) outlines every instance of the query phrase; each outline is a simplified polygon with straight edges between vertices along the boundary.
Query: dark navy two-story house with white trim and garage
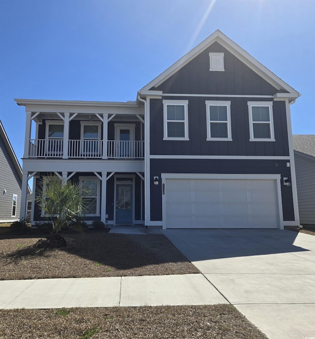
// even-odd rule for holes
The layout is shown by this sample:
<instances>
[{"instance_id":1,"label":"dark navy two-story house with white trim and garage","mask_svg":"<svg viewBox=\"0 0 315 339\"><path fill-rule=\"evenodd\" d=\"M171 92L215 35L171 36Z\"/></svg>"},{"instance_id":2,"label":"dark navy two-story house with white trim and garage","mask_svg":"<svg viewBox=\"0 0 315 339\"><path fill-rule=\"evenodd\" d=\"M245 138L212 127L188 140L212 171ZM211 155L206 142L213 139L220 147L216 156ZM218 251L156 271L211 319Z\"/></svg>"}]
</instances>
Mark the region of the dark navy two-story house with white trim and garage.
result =
<instances>
[{"instance_id":1,"label":"dark navy two-story house with white trim and garage","mask_svg":"<svg viewBox=\"0 0 315 339\"><path fill-rule=\"evenodd\" d=\"M290 104L299 93L220 31L136 101L16 99L28 180L90 188L85 219L163 228L299 225ZM32 222L44 218L32 203Z\"/></svg>"}]
</instances>

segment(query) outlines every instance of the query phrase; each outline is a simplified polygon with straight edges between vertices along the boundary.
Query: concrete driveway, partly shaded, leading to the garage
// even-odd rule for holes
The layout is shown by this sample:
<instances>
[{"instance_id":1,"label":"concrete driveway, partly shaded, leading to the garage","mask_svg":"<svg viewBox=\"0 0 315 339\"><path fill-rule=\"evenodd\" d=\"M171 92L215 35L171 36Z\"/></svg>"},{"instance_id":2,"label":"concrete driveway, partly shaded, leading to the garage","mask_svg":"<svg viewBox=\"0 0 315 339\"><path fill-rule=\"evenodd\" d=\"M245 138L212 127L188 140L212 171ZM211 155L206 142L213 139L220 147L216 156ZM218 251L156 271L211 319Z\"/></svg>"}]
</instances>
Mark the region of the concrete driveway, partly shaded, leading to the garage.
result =
<instances>
[{"instance_id":1,"label":"concrete driveway, partly shaded, leading to the garage","mask_svg":"<svg viewBox=\"0 0 315 339\"><path fill-rule=\"evenodd\" d=\"M162 233L268 338L315 338L315 236L276 229Z\"/></svg>"}]
</instances>

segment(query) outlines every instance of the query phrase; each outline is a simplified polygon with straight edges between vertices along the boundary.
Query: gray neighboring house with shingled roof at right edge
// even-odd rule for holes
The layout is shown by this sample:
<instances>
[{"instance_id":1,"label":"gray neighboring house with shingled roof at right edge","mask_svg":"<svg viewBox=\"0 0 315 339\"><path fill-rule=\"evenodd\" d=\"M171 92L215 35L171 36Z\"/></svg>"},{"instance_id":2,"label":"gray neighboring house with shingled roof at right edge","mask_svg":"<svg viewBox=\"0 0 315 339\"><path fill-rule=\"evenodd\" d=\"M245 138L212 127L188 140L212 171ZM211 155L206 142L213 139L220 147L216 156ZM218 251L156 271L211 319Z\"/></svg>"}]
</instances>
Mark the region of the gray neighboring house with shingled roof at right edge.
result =
<instances>
[{"instance_id":1,"label":"gray neighboring house with shingled roof at right edge","mask_svg":"<svg viewBox=\"0 0 315 339\"><path fill-rule=\"evenodd\" d=\"M315 225L315 135L293 135L300 223Z\"/></svg>"}]
</instances>

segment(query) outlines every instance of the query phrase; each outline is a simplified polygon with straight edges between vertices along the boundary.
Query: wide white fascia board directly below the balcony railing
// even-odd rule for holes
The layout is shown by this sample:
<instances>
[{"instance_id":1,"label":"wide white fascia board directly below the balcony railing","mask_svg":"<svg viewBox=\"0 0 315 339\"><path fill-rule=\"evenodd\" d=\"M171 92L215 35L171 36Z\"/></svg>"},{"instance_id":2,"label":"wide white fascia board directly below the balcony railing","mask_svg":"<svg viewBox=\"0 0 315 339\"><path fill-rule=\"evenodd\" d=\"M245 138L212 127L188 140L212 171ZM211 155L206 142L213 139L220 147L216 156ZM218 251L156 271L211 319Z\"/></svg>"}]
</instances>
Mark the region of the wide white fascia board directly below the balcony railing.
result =
<instances>
[{"instance_id":1,"label":"wide white fascia board directly below the balcony railing","mask_svg":"<svg viewBox=\"0 0 315 339\"><path fill-rule=\"evenodd\" d=\"M144 160L23 159L26 172L144 172Z\"/></svg>"}]
</instances>

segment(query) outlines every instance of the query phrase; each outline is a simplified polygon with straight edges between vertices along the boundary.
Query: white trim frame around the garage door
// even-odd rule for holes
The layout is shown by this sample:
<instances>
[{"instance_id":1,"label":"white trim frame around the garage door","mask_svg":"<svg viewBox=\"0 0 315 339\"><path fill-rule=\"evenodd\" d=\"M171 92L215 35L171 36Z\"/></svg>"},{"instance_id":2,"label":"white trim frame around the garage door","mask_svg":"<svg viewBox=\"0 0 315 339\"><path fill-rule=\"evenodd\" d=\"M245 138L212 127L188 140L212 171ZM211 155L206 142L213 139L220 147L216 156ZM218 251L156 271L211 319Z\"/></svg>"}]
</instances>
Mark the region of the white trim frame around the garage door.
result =
<instances>
[{"instance_id":1,"label":"white trim frame around the garage door","mask_svg":"<svg viewBox=\"0 0 315 339\"><path fill-rule=\"evenodd\" d=\"M281 174L196 174L196 173L161 173L162 186L166 179L217 179L217 180L276 180L276 198L279 228L284 229L281 197ZM166 229L166 194L162 194L162 228Z\"/></svg>"}]
</instances>

